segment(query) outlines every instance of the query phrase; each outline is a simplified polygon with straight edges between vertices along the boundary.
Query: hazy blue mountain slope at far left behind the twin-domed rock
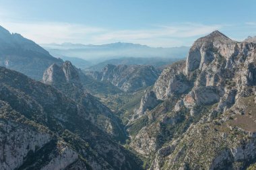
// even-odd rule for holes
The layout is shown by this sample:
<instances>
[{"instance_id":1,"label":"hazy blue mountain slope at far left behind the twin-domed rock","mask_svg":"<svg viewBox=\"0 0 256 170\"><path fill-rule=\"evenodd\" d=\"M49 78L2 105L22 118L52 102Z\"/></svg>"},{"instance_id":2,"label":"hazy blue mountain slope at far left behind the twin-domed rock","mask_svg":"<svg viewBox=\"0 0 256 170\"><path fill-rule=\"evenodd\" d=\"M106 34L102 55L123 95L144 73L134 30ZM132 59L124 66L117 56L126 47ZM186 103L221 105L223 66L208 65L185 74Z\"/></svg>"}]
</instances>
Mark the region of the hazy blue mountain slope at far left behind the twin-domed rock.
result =
<instances>
[{"instance_id":1,"label":"hazy blue mountain slope at far left behind the twin-domed rock","mask_svg":"<svg viewBox=\"0 0 256 170\"><path fill-rule=\"evenodd\" d=\"M62 62L32 40L20 34L10 34L0 26L0 66L40 80L47 67L53 63L60 65Z\"/></svg>"}]
</instances>

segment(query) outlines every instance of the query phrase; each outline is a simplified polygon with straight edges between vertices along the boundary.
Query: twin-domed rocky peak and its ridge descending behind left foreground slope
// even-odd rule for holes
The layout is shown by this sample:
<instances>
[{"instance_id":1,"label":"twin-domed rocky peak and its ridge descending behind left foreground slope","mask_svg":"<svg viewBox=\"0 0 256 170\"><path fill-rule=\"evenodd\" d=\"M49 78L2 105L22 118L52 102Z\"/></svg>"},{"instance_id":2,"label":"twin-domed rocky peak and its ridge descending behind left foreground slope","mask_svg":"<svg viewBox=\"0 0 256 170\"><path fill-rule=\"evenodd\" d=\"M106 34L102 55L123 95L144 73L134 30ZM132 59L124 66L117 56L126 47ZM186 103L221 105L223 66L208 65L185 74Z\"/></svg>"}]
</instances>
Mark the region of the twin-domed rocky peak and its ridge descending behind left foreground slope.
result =
<instances>
[{"instance_id":1,"label":"twin-domed rocky peak and its ridge descending behind left foreground slope","mask_svg":"<svg viewBox=\"0 0 256 170\"><path fill-rule=\"evenodd\" d=\"M125 131L121 120L98 99L86 92L86 86L84 87L82 84L81 77L86 77L86 75L76 69L71 62L65 61L61 67L53 64L46 69L42 82L53 85L67 97L71 97L77 103L84 105L87 112L90 112L90 118L96 126L117 140L124 142Z\"/></svg>"}]
</instances>

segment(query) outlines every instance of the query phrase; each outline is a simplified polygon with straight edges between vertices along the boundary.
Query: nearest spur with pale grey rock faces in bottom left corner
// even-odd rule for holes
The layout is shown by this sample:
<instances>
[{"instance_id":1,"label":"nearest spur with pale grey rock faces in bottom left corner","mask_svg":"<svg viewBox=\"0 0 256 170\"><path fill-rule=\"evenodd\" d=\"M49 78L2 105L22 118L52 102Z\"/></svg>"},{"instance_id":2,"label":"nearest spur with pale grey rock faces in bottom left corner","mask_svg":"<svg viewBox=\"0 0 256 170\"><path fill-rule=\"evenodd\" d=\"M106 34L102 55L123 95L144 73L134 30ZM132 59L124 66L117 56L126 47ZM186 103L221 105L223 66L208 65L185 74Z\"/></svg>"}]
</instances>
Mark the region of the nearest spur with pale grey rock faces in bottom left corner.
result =
<instances>
[{"instance_id":1,"label":"nearest spur with pale grey rock faces in bottom left corner","mask_svg":"<svg viewBox=\"0 0 256 170\"><path fill-rule=\"evenodd\" d=\"M79 160L78 154L66 142L57 141L53 133L46 127L22 117L12 110L10 105L1 101L1 170L24 169L64 169ZM10 114L11 112L11 114ZM54 146L53 146L54 145ZM47 151L45 147L56 148ZM40 153L40 154L38 154ZM37 159L32 161L32 155ZM41 158L40 155L51 155ZM44 159L44 163L40 162Z\"/></svg>"}]
</instances>

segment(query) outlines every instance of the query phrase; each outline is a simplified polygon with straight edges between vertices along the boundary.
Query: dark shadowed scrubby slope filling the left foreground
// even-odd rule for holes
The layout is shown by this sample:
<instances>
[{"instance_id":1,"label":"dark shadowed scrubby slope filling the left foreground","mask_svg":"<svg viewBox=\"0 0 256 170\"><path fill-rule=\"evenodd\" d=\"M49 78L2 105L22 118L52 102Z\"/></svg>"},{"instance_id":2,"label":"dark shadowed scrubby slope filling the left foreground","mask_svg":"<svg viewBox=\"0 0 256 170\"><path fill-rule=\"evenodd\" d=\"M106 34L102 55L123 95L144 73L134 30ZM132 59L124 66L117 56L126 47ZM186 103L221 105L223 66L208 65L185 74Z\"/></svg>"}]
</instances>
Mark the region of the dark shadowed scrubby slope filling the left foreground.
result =
<instances>
[{"instance_id":1,"label":"dark shadowed scrubby slope filling the left foreground","mask_svg":"<svg viewBox=\"0 0 256 170\"><path fill-rule=\"evenodd\" d=\"M83 105L50 85L0 67L0 100L1 169L140 169Z\"/></svg>"}]
</instances>

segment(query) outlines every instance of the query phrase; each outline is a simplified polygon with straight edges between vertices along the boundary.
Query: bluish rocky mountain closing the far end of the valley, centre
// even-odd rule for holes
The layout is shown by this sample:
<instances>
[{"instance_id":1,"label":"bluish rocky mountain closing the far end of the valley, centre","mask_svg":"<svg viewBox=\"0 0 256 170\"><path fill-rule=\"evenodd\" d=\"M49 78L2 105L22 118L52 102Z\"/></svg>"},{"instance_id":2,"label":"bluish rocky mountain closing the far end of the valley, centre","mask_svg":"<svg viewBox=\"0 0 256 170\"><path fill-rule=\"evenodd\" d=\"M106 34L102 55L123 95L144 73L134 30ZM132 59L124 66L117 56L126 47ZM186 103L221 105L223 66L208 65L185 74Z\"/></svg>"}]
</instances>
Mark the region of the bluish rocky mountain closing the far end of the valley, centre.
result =
<instances>
[{"instance_id":1,"label":"bluish rocky mountain closing the far end of the valley, centre","mask_svg":"<svg viewBox=\"0 0 256 170\"><path fill-rule=\"evenodd\" d=\"M102 72L92 71L87 75L98 81L110 81L127 92L153 85L159 73L160 71L148 65L106 65Z\"/></svg>"}]
</instances>

